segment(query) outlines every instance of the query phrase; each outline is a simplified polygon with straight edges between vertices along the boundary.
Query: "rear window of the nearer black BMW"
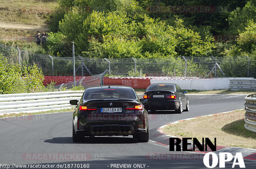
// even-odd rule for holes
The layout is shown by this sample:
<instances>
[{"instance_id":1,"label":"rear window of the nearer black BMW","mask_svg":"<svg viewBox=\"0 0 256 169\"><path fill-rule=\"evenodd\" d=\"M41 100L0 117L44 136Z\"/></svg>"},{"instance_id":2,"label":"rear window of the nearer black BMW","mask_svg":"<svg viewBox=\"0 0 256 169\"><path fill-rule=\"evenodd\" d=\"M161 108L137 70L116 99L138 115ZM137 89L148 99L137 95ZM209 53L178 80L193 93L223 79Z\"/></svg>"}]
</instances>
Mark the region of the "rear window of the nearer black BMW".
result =
<instances>
[{"instance_id":1,"label":"rear window of the nearer black BMW","mask_svg":"<svg viewBox=\"0 0 256 169\"><path fill-rule=\"evenodd\" d=\"M130 88L89 88L84 95L84 99L136 99L136 97Z\"/></svg>"}]
</instances>

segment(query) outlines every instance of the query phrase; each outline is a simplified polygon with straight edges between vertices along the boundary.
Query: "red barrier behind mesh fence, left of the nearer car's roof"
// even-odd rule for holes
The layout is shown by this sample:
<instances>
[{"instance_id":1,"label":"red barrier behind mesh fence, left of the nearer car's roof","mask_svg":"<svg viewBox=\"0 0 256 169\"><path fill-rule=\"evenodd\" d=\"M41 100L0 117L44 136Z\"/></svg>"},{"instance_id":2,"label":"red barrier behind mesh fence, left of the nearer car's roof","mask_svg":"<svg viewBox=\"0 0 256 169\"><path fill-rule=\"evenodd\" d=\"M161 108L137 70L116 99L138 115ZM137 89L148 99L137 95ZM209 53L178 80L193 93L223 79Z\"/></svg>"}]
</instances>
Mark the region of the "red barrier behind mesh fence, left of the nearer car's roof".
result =
<instances>
[{"instance_id":1,"label":"red barrier behind mesh fence, left of the nearer car's roof","mask_svg":"<svg viewBox=\"0 0 256 169\"><path fill-rule=\"evenodd\" d=\"M76 76L76 80L81 78L82 76ZM62 83L73 82L73 76L44 76L43 84L47 86L47 84L51 83L51 80L56 82L55 85L61 85Z\"/></svg>"}]
</instances>

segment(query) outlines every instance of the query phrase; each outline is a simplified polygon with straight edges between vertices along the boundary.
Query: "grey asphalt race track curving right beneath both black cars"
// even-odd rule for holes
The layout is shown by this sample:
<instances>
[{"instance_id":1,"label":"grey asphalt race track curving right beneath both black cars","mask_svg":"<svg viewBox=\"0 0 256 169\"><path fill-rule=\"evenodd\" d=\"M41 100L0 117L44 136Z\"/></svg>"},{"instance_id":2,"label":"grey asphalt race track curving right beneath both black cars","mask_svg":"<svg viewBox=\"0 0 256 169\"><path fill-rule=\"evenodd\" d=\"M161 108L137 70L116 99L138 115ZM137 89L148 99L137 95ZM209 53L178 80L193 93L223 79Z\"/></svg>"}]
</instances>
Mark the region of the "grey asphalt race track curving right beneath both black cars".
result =
<instances>
[{"instance_id":1,"label":"grey asphalt race track curving right beneath both black cars","mask_svg":"<svg viewBox=\"0 0 256 169\"><path fill-rule=\"evenodd\" d=\"M149 129L186 118L242 109L245 96L188 95L189 112L149 112ZM71 121L72 112L0 119L0 164L51 164L64 165L63 168L71 168L72 164L72 168L75 164L79 164L79 168L84 168L84 164L89 164L89 168L129 168L124 164L131 164L130 168L206 168L202 154L171 152L169 147L151 141L137 143L132 136L86 137L84 142L73 143ZM244 163L246 168L256 166L256 161L244 159ZM226 163L226 167L231 168L232 164L233 160Z\"/></svg>"}]
</instances>

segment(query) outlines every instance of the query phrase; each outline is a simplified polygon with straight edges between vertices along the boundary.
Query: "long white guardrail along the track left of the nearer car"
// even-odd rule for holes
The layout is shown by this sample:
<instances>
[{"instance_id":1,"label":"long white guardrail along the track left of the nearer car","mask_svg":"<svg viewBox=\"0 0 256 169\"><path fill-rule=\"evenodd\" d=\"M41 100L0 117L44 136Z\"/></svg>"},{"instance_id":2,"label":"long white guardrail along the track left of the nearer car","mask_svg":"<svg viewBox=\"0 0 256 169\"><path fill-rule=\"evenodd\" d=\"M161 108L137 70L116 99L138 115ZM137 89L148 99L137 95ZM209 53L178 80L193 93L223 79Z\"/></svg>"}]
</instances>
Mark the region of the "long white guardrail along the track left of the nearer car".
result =
<instances>
[{"instance_id":1,"label":"long white guardrail along the track left of the nearer car","mask_svg":"<svg viewBox=\"0 0 256 169\"><path fill-rule=\"evenodd\" d=\"M80 100L84 91L38 92L0 95L0 115L71 108L69 100Z\"/></svg>"}]
</instances>

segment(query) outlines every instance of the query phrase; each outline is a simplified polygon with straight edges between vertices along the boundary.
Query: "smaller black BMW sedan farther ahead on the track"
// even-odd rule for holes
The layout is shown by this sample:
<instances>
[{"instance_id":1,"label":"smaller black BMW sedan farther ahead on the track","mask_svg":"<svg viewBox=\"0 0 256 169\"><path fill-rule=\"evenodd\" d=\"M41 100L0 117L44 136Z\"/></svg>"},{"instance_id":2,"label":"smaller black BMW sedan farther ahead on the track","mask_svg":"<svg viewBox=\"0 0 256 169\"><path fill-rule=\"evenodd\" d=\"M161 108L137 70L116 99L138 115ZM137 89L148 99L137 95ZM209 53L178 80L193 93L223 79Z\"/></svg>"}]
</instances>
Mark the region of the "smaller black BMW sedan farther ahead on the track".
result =
<instances>
[{"instance_id":1,"label":"smaller black BMW sedan farther ahead on the track","mask_svg":"<svg viewBox=\"0 0 256 169\"><path fill-rule=\"evenodd\" d=\"M187 91L177 84L152 84L146 89L143 98L147 99L144 108L148 111L175 110L176 113L189 110Z\"/></svg>"}]
</instances>

